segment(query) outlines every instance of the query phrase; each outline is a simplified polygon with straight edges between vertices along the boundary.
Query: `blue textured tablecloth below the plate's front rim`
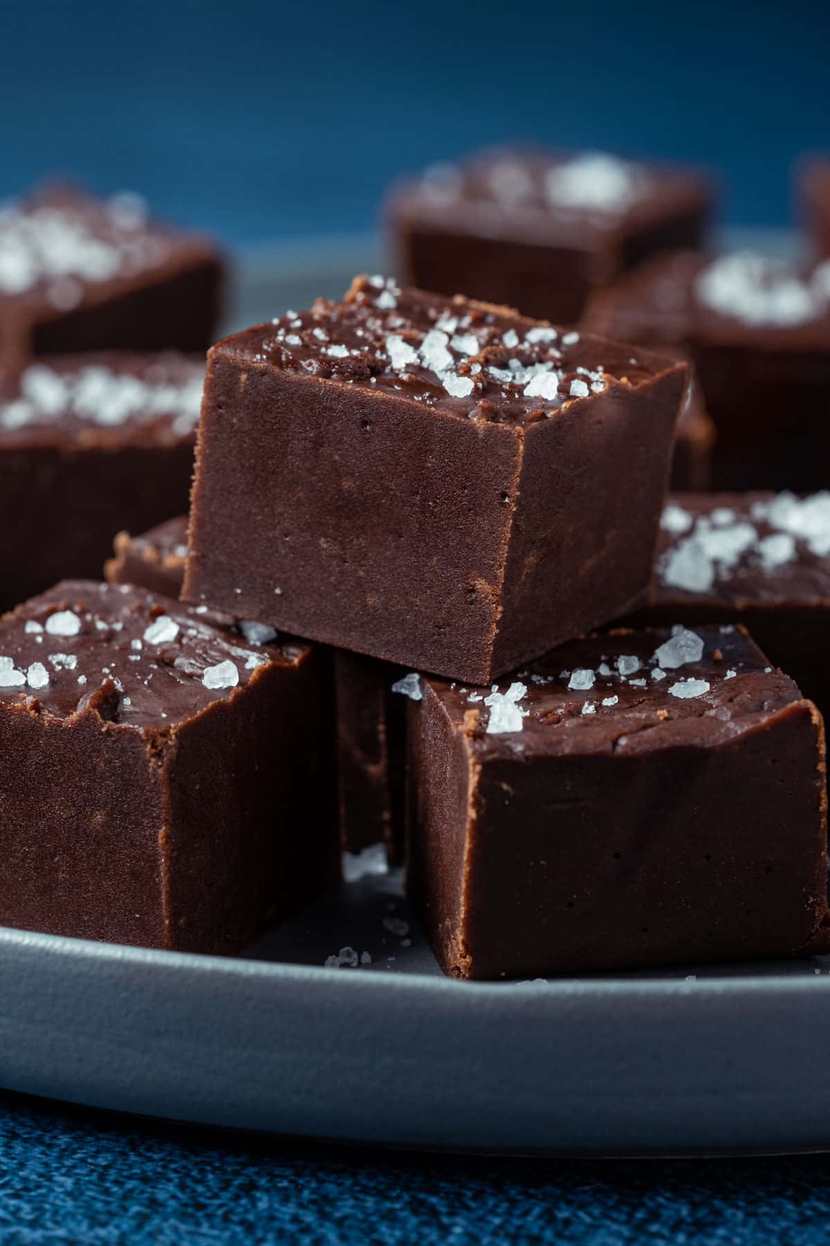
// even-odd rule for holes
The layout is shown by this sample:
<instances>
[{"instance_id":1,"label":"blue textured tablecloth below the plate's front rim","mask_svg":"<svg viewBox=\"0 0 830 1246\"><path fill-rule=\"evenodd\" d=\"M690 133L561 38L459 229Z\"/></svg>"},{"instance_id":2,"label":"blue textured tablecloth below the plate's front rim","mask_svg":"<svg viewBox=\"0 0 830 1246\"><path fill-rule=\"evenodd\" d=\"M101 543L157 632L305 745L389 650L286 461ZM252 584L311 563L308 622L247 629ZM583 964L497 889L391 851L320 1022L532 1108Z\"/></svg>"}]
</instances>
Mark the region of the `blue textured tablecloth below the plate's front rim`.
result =
<instances>
[{"instance_id":1,"label":"blue textured tablecloth below the plate's front rim","mask_svg":"<svg viewBox=\"0 0 830 1246\"><path fill-rule=\"evenodd\" d=\"M164 1125L0 1094L4 1246L814 1246L829 1239L824 1155L426 1155Z\"/></svg>"}]
</instances>

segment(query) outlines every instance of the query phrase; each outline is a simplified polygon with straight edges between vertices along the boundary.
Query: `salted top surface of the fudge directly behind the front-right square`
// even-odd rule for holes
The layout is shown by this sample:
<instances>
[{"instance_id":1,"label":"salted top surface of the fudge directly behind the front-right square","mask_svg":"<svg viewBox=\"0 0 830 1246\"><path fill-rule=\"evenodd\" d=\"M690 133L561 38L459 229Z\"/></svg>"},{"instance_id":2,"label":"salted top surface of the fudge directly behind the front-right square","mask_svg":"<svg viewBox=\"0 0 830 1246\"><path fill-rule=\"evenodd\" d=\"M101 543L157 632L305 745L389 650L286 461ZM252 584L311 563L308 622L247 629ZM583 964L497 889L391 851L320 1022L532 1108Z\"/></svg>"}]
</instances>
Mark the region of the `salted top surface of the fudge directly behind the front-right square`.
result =
<instances>
[{"instance_id":1,"label":"salted top surface of the fudge directly behind the front-right square","mask_svg":"<svg viewBox=\"0 0 830 1246\"><path fill-rule=\"evenodd\" d=\"M655 604L830 601L830 492L676 493L661 520Z\"/></svg>"}]
</instances>

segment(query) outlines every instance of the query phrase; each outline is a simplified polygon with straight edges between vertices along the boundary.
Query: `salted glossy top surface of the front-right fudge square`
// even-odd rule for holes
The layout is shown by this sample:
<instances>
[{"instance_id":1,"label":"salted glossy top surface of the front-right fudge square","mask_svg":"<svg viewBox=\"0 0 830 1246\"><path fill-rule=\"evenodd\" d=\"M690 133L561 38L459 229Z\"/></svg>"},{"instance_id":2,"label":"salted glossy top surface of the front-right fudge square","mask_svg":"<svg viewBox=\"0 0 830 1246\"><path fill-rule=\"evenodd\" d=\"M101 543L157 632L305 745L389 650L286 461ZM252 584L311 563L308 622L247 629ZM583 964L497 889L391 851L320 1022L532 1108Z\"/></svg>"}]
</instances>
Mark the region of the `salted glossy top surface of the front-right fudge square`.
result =
<instances>
[{"instance_id":1,"label":"salted glossy top surface of the front-right fudge square","mask_svg":"<svg viewBox=\"0 0 830 1246\"><path fill-rule=\"evenodd\" d=\"M428 684L482 756L709 746L800 699L798 685L732 625L618 629L574 640L489 693Z\"/></svg>"}]
</instances>

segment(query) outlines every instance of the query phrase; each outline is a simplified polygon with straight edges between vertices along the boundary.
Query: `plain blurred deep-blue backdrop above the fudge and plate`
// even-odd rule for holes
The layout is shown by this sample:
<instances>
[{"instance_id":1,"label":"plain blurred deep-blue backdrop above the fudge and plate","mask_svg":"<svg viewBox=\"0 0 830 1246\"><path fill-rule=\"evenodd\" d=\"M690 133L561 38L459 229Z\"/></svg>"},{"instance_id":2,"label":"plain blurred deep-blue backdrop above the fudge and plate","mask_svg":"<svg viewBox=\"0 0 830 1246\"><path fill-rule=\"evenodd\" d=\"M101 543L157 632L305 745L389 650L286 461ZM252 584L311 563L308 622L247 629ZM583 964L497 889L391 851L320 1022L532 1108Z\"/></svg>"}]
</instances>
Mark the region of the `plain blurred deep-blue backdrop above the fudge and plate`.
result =
<instances>
[{"instance_id":1,"label":"plain blurred deep-blue backdrop above the fudge and plate","mask_svg":"<svg viewBox=\"0 0 830 1246\"><path fill-rule=\"evenodd\" d=\"M62 169L231 242L368 232L391 177L495 140L709 163L791 219L830 151L830 5L0 0L0 193Z\"/></svg>"}]
</instances>

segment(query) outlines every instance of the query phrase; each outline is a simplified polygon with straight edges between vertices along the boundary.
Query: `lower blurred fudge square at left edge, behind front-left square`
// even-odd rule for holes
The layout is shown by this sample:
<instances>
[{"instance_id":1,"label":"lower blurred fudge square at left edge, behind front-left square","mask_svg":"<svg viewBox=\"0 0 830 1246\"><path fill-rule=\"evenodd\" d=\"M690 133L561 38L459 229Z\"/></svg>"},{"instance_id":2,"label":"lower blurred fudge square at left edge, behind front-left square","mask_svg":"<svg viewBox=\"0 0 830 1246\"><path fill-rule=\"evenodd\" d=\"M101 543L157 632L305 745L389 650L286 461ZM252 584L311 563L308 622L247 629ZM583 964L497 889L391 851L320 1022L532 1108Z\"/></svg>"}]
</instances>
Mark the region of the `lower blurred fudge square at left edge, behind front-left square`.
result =
<instances>
[{"instance_id":1,"label":"lower blurred fudge square at left edge, behind front-left square","mask_svg":"<svg viewBox=\"0 0 830 1246\"><path fill-rule=\"evenodd\" d=\"M119 528L187 508L203 384L193 356L116 351L56 356L0 385L0 604L97 578Z\"/></svg>"}]
</instances>

